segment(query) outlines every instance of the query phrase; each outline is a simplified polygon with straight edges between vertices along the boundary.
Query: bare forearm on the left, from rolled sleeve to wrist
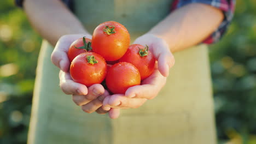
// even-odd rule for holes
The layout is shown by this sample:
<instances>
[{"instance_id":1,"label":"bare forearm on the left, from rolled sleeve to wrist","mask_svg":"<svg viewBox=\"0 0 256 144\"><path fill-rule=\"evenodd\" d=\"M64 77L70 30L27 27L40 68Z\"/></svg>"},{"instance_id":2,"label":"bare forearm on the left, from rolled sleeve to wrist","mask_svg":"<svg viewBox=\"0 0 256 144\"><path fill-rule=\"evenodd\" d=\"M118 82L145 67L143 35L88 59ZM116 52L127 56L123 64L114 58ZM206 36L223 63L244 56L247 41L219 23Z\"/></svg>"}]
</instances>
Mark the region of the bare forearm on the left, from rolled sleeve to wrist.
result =
<instances>
[{"instance_id":1,"label":"bare forearm on the left, from rolled sleeve to wrist","mask_svg":"<svg viewBox=\"0 0 256 144\"><path fill-rule=\"evenodd\" d=\"M31 25L53 46L62 35L88 33L61 1L26 0L24 9Z\"/></svg>"}]
</instances>

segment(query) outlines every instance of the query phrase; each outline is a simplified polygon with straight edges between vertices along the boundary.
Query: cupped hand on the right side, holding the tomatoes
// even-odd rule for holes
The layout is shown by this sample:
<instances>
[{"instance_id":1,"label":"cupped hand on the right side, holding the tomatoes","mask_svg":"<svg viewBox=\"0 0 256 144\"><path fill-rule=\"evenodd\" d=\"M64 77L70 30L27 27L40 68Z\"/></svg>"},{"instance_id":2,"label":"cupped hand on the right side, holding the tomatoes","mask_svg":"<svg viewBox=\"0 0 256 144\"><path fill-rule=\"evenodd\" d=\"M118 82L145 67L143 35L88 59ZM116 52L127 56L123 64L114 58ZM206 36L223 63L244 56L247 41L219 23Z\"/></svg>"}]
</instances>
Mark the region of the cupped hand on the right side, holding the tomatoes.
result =
<instances>
[{"instance_id":1,"label":"cupped hand on the right side, holding the tomatoes","mask_svg":"<svg viewBox=\"0 0 256 144\"><path fill-rule=\"evenodd\" d=\"M166 83L169 69L174 65L174 57L165 40L153 34L145 34L137 38L134 44L148 45L149 50L158 60L152 75L144 79L141 85L127 89L125 94L114 94L107 96L103 100L103 106L118 109L137 108L148 99L153 99L158 95L161 88Z\"/></svg>"}]
</instances>

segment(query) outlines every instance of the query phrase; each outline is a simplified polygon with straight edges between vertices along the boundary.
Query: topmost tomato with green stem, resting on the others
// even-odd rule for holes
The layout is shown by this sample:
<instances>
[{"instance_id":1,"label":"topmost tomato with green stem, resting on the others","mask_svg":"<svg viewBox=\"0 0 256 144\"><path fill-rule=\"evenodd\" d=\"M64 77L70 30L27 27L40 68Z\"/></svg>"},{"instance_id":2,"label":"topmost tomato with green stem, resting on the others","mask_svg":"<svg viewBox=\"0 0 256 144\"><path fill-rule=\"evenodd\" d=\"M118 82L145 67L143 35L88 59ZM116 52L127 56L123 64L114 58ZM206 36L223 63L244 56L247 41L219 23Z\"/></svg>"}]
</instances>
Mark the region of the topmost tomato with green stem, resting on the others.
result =
<instances>
[{"instance_id":1,"label":"topmost tomato with green stem, resting on the others","mask_svg":"<svg viewBox=\"0 0 256 144\"><path fill-rule=\"evenodd\" d=\"M92 50L100 54L106 61L121 58L130 45L130 34L118 22L107 21L98 25L92 34Z\"/></svg>"}]
</instances>

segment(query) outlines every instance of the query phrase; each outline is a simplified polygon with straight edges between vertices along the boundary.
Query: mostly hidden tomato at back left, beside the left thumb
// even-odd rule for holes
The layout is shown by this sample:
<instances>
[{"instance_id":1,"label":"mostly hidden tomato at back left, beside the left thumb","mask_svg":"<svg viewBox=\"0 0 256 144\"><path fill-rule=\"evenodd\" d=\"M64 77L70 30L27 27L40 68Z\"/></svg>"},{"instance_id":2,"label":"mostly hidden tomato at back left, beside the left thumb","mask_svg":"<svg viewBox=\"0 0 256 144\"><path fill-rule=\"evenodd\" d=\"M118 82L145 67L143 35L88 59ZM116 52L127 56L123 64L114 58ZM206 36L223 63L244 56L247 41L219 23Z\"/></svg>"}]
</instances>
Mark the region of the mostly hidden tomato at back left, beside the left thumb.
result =
<instances>
[{"instance_id":1,"label":"mostly hidden tomato at back left, beside the left thumb","mask_svg":"<svg viewBox=\"0 0 256 144\"><path fill-rule=\"evenodd\" d=\"M80 38L75 40L68 49L68 59L70 62L80 53L91 51L91 39Z\"/></svg>"}]
</instances>

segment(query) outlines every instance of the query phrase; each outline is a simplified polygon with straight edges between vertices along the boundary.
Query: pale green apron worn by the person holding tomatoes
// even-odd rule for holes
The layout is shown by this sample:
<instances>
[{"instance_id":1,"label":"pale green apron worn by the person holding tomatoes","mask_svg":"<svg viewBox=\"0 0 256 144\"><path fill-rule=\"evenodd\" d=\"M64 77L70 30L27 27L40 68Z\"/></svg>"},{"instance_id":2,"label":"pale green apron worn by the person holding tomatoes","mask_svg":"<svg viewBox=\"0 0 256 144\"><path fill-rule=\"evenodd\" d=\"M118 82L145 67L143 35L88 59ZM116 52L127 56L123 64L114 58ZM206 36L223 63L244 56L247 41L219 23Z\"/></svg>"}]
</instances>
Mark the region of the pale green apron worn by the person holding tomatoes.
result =
<instances>
[{"instance_id":1,"label":"pale green apron worn by the person holding tomatoes","mask_svg":"<svg viewBox=\"0 0 256 144\"><path fill-rule=\"evenodd\" d=\"M104 21L122 23L131 43L170 13L170 0L74 1L75 15L92 33ZM29 144L40 143L217 143L206 45L174 53L166 85L138 109L121 110L118 119L85 113L59 87L53 47L43 41L38 59Z\"/></svg>"}]
</instances>

